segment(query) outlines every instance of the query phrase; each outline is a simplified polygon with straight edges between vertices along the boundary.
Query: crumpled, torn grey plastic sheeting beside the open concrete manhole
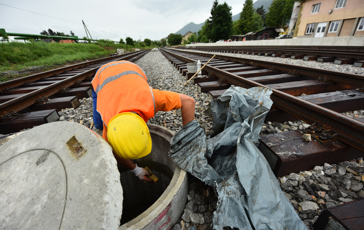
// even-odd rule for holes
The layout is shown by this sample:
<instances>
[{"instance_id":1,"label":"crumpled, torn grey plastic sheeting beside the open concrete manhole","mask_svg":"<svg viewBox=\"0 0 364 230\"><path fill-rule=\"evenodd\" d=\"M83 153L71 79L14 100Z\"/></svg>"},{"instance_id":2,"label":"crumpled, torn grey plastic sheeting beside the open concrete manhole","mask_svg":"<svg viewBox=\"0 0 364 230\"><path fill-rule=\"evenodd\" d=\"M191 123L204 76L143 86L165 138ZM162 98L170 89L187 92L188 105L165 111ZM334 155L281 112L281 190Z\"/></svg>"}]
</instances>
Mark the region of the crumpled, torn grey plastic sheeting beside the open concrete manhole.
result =
<instances>
[{"instance_id":1,"label":"crumpled, torn grey plastic sheeting beside the open concrete manhole","mask_svg":"<svg viewBox=\"0 0 364 230\"><path fill-rule=\"evenodd\" d=\"M307 229L281 191L267 160L258 150L272 91L230 87L205 111L221 133L206 139L194 120L171 139L170 156L218 194L213 228Z\"/></svg>"}]
</instances>

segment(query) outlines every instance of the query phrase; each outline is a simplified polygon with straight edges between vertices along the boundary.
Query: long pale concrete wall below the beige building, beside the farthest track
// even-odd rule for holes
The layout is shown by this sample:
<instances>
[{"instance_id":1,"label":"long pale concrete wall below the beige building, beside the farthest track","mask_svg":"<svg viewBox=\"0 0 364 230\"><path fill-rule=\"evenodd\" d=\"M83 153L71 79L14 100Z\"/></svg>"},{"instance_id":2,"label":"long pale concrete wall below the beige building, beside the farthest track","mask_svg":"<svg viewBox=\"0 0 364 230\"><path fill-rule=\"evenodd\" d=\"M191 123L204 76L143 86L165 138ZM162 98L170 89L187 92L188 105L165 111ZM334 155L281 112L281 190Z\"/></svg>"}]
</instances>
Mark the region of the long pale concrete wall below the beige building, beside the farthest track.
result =
<instances>
[{"instance_id":1,"label":"long pale concrete wall below the beige building, beside the farthest track","mask_svg":"<svg viewBox=\"0 0 364 230\"><path fill-rule=\"evenodd\" d=\"M187 44L189 46L254 46L254 45L307 45L307 46L364 46L364 36L308 37L291 39L232 41L219 43Z\"/></svg>"}]
</instances>

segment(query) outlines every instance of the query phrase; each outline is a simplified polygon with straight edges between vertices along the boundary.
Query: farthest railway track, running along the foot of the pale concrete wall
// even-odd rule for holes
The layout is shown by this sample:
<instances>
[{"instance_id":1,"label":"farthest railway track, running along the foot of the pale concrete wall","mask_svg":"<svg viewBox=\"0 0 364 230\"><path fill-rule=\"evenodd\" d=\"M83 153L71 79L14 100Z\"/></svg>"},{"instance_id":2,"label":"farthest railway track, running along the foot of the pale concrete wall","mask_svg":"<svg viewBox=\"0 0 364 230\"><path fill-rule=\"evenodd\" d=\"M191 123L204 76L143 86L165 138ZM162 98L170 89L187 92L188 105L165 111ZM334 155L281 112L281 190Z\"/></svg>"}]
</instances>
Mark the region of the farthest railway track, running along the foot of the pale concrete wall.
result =
<instances>
[{"instance_id":1,"label":"farthest railway track, running along the foot of the pale concrete wall","mask_svg":"<svg viewBox=\"0 0 364 230\"><path fill-rule=\"evenodd\" d=\"M192 49L196 51L241 53L258 56L272 56L291 59L314 60L317 62L333 62L334 64L352 64L364 67L364 48L345 46L199 46L176 47L178 49Z\"/></svg>"}]
</instances>

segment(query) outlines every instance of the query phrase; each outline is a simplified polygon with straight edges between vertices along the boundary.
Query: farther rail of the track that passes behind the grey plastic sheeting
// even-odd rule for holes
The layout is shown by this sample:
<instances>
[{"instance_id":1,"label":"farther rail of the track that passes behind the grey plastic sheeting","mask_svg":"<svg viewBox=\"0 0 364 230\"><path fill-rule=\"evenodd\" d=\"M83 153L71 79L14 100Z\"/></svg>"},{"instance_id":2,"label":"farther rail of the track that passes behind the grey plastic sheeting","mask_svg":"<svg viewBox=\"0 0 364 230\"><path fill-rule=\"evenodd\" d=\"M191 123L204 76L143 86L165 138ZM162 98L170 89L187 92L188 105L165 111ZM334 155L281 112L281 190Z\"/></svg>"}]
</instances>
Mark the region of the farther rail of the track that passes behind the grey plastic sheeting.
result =
<instances>
[{"instance_id":1,"label":"farther rail of the track that passes behind the grey plastic sheeting","mask_svg":"<svg viewBox=\"0 0 364 230\"><path fill-rule=\"evenodd\" d=\"M193 51L185 51L185 50L176 50L178 52L190 53L194 55L201 55L206 57L212 57L214 54L210 53L200 53L200 52L193 52ZM345 72L337 72L332 70L324 70L319 68L312 68L312 67L305 67L305 66L295 66L292 64L286 63L277 63L277 62L269 62L257 59L249 59L243 57L233 57L233 56L226 56L226 55L216 55L218 59L229 59L233 62L237 63L244 63L250 65L259 65L263 68L276 68L277 70L287 71L294 74L310 76L314 78L327 78L331 79L332 82L337 83L344 83L351 86L357 86L358 88L364 88L364 76L358 74L349 74Z\"/></svg>"}]
</instances>

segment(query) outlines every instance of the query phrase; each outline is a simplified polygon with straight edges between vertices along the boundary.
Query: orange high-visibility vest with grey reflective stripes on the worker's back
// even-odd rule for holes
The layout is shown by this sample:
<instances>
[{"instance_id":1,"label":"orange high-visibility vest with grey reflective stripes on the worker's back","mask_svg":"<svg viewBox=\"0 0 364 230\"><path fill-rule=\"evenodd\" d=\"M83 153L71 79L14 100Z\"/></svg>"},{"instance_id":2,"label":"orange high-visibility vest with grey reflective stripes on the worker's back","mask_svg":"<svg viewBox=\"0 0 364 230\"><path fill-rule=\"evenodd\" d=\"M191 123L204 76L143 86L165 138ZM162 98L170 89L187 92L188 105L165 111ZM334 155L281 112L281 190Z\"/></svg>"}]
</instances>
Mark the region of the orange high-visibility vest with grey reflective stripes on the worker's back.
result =
<instances>
[{"instance_id":1,"label":"orange high-visibility vest with grey reflective stripes on the worker's back","mask_svg":"<svg viewBox=\"0 0 364 230\"><path fill-rule=\"evenodd\" d=\"M128 61L103 65L92 79L97 94L97 111L107 127L122 112L137 112L145 122L154 116L155 101L145 72Z\"/></svg>"}]
</instances>

